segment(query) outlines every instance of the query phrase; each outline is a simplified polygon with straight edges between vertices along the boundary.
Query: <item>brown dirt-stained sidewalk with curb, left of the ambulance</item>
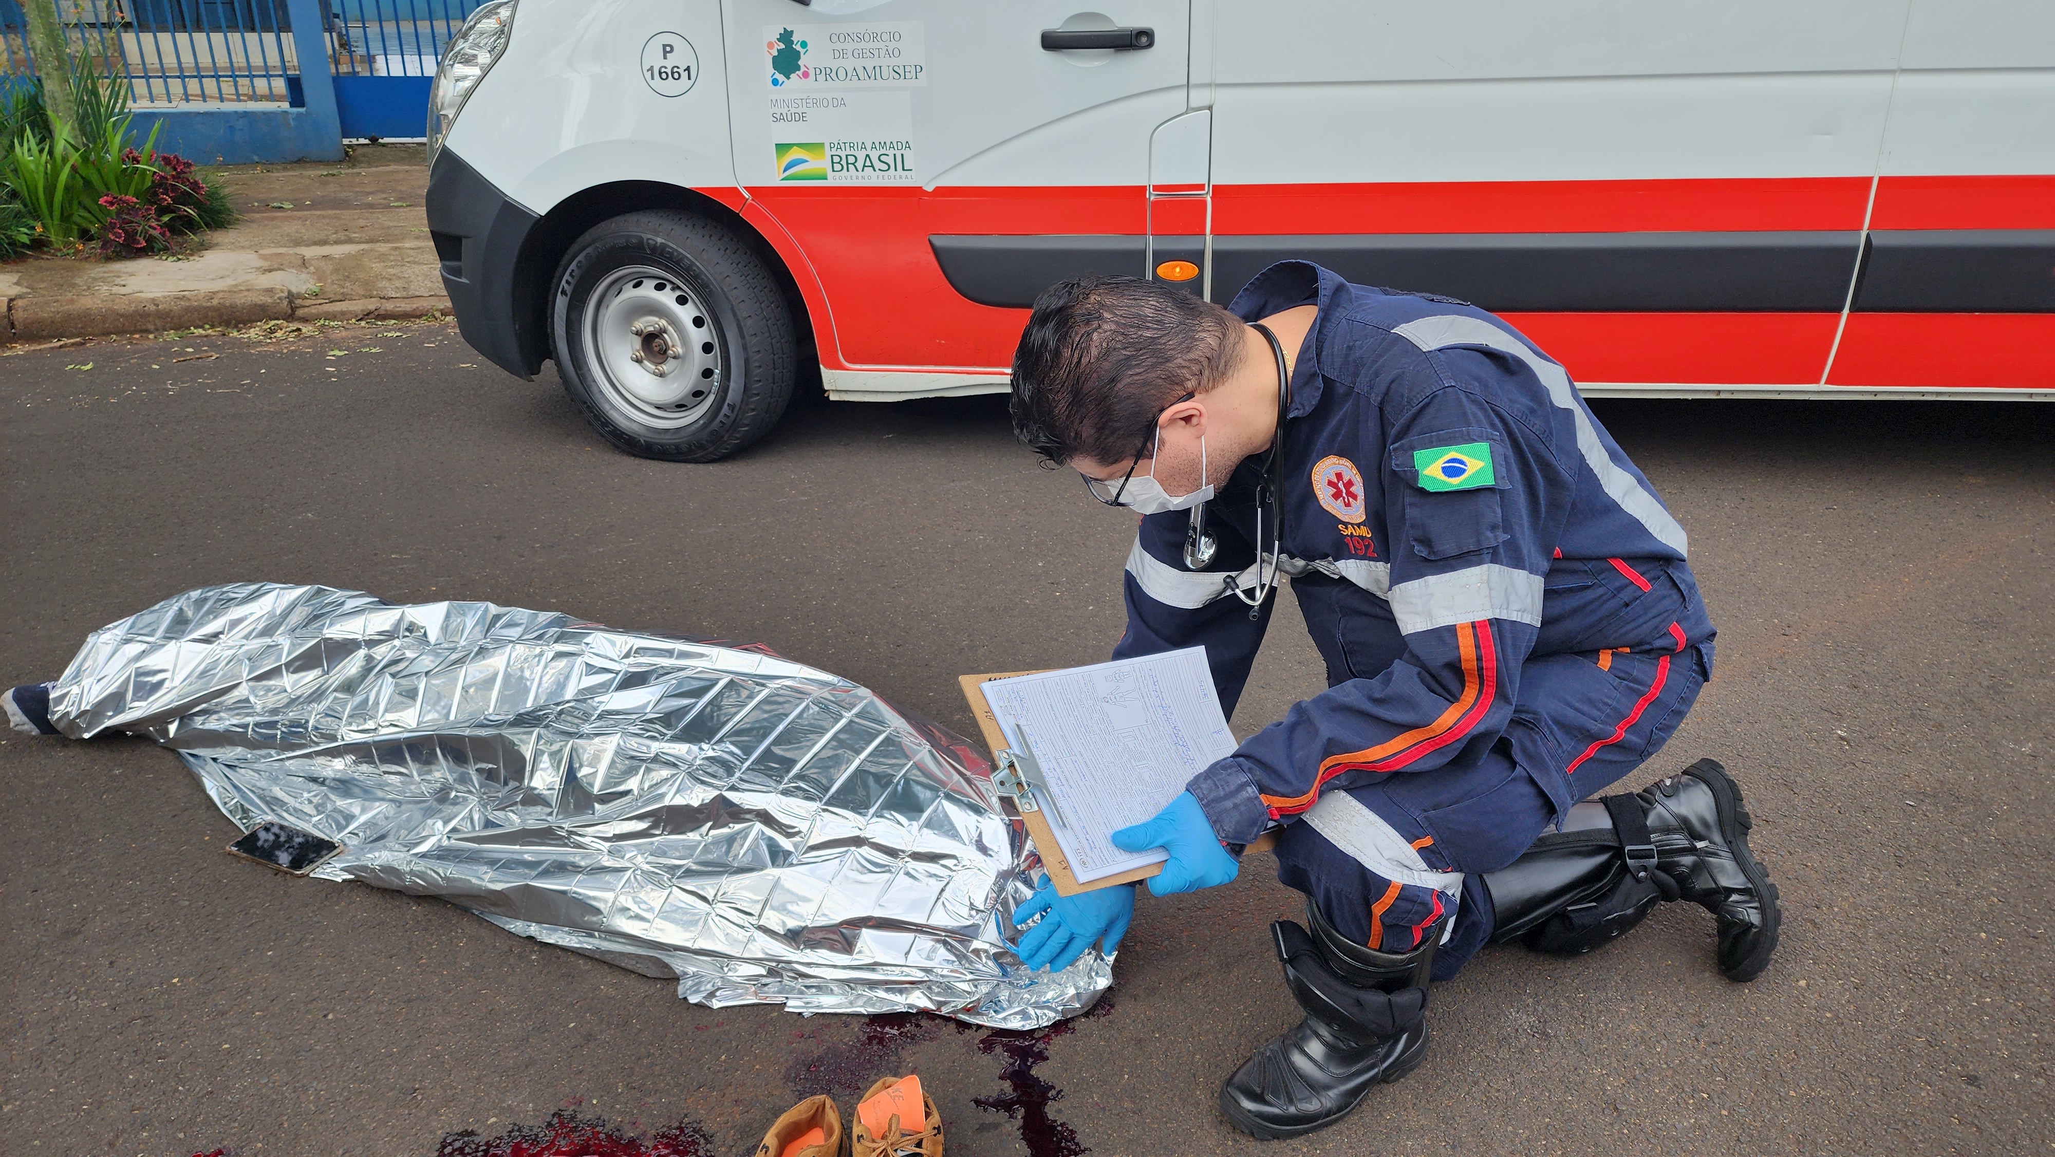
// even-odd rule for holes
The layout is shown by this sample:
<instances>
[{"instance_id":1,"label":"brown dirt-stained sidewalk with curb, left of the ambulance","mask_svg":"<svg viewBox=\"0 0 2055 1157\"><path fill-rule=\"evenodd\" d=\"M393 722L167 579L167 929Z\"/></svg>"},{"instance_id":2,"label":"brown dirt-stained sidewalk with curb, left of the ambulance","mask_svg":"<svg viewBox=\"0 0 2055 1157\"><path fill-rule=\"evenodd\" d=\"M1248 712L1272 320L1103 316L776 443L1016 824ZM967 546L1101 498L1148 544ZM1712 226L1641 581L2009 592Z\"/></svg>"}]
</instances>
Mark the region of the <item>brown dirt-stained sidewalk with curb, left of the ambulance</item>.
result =
<instances>
[{"instance_id":1,"label":"brown dirt-stained sidewalk with curb, left of the ambulance","mask_svg":"<svg viewBox=\"0 0 2055 1157\"><path fill-rule=\"evenodd\" d=\"M423 148L222 169L242 222L183 261L29 257L0 265L0 343L273 319L448 314L427 238Z\"/></svg>"}]
</instances>

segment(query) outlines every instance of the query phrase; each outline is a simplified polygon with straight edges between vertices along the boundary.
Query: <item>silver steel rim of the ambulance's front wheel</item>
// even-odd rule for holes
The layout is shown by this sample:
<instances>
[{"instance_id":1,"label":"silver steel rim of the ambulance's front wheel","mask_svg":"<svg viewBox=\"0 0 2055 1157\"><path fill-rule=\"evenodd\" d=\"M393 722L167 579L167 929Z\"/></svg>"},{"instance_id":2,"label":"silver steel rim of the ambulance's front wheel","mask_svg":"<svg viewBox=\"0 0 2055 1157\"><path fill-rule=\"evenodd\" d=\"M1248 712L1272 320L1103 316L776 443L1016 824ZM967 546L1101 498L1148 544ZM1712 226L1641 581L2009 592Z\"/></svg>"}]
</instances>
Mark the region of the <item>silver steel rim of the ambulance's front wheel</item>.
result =
<instances>
[{"instance_id":1,"label":"silver steel rim of the ambulance's front wheel","mask_svg":"<svg viewBox=\"0 0 2055 1157\"><path fill-rule=\"evenodd\" d=\"M676 273L614 269L592 290L584 331L584 362L598 393L641 425L693 425L719 401L719 327L705 298Z\"/></svg>"}]
</instances>

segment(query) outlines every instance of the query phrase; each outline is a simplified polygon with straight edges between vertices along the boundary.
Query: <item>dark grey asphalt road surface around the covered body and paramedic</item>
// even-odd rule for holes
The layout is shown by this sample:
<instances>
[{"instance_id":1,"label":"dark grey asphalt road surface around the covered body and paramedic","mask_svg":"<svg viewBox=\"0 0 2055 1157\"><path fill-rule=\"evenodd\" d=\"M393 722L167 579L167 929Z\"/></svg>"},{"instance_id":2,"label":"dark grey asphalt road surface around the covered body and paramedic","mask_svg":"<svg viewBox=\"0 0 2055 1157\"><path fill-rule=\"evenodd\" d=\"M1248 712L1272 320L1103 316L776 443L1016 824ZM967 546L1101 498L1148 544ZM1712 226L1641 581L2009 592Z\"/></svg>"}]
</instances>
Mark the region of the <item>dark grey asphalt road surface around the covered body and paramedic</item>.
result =
<instances>
[{"instance_id":1,"label":"dark grey asphalt road surface around the covered body and paramedic","mask_svg":"<svg viewBox=\"0 0 2055 1157\"><path fill-rule=\"evenodd\" d=\"M84 368L88 366L90 368ZM951 1157L2047 1153L2055 409L1609 403L1691 532L1720 666L1646 775L1722 758L1784 890L1753 984L1660 908L1580 960L1488 949L1426 1067L1262 1147L1212 1099L1297 1021L1251 857L1143 898L1110 1011L1044 1040L709 1011L436 900L294 880L142 740L0 746L10 1155L427 1155L559 1108L746 1153L799 1093L917 1069ZM711 466L598 442L450 327L0 358L0 682L185 588L321 582L760 639L976 734L956 676L1101 660L1128 518L995 399L797 409ZM1321 688L1280 608L1237 730ZM1640 787L1630 783L1628 787Z\"/></svg>"}]
</instances>

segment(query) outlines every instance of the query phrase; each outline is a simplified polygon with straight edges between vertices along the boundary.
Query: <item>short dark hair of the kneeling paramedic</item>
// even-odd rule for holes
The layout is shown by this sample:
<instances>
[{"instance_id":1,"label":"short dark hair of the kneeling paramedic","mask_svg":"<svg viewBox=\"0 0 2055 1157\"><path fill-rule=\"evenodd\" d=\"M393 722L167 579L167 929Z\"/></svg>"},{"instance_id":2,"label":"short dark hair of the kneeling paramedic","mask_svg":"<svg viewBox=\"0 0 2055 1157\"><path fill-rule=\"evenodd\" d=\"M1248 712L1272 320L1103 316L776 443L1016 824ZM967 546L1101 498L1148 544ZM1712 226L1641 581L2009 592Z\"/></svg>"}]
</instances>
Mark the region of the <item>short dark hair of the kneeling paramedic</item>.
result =
<instances>
[{"instance_id":1,"label":"short dark hair of the kneeling paramedic","mask_svg":"<svg viewBox=\"0 0 2055 1157\"><path fill-rule=\"evenodd\" d=\"M1235 314L1163 282L1056 282L1013 349L1013 434L1048 462L1132 458L1180 395L1235 372L1239 331Z\"/></svg>"}]
</instances>

